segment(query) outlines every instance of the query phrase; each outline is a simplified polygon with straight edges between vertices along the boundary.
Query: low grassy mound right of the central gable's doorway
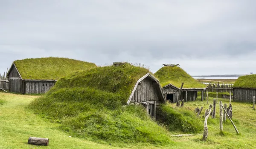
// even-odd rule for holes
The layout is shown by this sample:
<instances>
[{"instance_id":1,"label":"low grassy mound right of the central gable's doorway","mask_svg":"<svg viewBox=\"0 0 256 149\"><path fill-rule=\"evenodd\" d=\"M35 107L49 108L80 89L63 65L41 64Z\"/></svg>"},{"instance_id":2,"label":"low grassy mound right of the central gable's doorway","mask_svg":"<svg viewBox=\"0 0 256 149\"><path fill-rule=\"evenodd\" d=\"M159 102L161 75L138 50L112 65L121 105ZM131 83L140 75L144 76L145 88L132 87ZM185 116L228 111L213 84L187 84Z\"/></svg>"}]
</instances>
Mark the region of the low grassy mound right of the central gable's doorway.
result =
<instances>
[{"instance_id":1,"label":"low grassy mound right of the central gable's doorway","mask_svg":"<svg viewBox=\"0 0 256 149\"><path fill-rule=\"evenodd\" d=\"M164 123L169 131L200 132L203 122L189 109L172 108L169 103L162 104L157 110L158 120Z\"/></svg>"}]
</instances>

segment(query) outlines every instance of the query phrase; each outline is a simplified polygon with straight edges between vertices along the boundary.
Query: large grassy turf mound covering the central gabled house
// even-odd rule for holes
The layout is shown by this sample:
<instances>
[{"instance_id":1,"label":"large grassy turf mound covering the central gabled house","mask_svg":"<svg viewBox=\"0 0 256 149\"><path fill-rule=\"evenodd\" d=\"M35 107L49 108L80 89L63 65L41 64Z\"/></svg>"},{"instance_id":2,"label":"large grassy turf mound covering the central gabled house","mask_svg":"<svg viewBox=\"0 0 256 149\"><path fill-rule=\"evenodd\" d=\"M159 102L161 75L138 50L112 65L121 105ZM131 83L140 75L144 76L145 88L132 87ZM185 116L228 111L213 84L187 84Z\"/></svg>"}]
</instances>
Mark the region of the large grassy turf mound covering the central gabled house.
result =
<instances>
[{"instance_id":1,"label":"large grassy turf mound covering the central gabled house","mask_svg":"<svg viewBox=\"0 0 256 149\"><path fill-rule=\"evenodd\" d=\"M108 142L170 143L168 131L151 120L142 106L123 106L136 81L148 72L128 63L75 72L58 80L29 108L61 123L61 129L74 137Z\"/></svg>"}]
</instances>

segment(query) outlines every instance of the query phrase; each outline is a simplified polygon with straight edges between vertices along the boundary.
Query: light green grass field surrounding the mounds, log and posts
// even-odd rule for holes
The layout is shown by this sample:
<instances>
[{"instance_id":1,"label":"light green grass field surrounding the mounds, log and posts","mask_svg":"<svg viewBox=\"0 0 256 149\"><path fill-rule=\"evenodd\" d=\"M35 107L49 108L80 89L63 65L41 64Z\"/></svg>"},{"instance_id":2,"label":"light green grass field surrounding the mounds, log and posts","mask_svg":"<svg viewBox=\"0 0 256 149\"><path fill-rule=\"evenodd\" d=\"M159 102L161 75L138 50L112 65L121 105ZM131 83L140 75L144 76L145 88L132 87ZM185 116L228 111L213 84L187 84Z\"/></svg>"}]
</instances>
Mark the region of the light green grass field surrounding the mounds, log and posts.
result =
<instances>
[{"instance_id":1,"label":"light green grass field surrounding the mounds, log and posts","mask_svg":"<svg viewBox=\"0 0 256 149\"><path fill-rule=\"evenodd\" d=\"M252 110L249 103L233 104L233 121L236 124L240 135L236 135L230 121L223 124L224 134L219 133L219 105L216 108L216 118L208 119L209 135L208 141L204 142L203 132L199 132L191 137L175 138L170 136L171 143L155 145L150 143L116 143L111 145L105 141L95 141L91 138L69 138L70 134L61 131L59 124L51 123L49 120L33 114L27 107L29 103L38 96L17 95L0 92L0 149L108 149L108 148L152 148L152 149L183 149L183 148L254 148L256 144L256 111ZM228 100L222 100L228 103ZM209 98L212 103L212 98ZM167 106L175 107L175 104ZM203 106L205 111L209 104L206 101L194 101L185 103L185 109L193 111L196 107ZM202 112L201 115L204 115ZM201 118L203 120L203 118ZM181 134L175 131L170 134ZM32 146L27 144L29 136L49 138L49 146ZM174 143L173 143L174 142Z\"/></svg>"}]
</instances>

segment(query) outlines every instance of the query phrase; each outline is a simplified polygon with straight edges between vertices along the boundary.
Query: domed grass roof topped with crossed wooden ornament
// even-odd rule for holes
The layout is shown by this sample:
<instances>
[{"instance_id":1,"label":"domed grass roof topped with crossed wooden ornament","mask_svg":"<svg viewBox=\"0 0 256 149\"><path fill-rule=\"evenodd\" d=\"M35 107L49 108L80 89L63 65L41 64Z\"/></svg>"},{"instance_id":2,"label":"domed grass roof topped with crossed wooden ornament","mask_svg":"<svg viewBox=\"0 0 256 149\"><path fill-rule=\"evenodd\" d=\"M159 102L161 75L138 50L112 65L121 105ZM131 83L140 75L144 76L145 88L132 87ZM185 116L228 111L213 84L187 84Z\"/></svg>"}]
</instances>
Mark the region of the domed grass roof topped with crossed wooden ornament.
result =
<instances>
[{"instance_id":1,"label":"domed grass roof topped with crossed wooden ornament","mask_svg":"<svg viewBox=\"0 0 256 149\"><path fill-rule=\"evenodd\" d=\"M183 88L206 88L203 83L197 82L189 74L180 67L164 66L154 74L160 81L161 86L166 86L169 83L180 88L183 82Z\"/></svg>"}]
</instances>

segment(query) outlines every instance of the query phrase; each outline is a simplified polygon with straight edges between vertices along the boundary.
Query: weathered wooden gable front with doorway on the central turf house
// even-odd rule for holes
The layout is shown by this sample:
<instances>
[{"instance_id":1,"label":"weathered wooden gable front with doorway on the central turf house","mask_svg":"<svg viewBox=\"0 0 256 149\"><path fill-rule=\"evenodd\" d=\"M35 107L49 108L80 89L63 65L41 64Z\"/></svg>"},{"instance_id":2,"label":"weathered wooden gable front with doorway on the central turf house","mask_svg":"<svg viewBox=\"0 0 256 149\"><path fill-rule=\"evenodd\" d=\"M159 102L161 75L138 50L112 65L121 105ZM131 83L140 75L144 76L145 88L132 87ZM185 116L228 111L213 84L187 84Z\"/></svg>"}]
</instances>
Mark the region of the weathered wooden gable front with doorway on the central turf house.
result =
<instances>
[{"instance_id":1,"label":"weathered wooden gable front with doorway on the central turf house","mask_svg":"<svg viewBox=\"0 0 256 149\"><path fill-rule=\"evenodd\" d=\"M160 103L165 103L163 91L159 81L150 73L141 77L127 101L129 104L142 104L151 117L156 116L156 107Z\"/></svg>"}]
</instances>

